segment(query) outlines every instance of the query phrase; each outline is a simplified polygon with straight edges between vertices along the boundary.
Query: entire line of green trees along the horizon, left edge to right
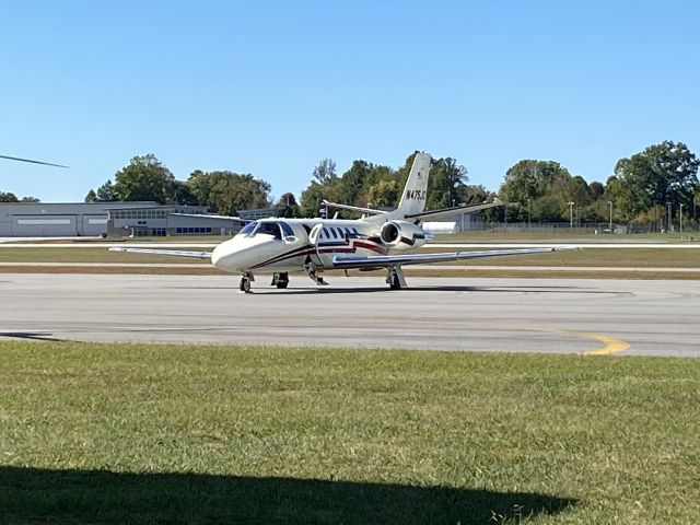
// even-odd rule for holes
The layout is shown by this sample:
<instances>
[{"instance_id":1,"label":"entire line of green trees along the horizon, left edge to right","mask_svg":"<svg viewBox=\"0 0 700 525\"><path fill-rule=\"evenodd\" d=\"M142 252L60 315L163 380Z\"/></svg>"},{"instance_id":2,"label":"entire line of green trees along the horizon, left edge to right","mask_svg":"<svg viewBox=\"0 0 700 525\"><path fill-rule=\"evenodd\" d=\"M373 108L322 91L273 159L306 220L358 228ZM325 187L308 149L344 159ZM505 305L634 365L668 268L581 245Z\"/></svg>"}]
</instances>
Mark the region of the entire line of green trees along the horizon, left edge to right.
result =
<instances>
[{"instance_id":1,"label":"entire line of green trees along the horizon, left edge to right","mask_svg":"<svg viewBox=\"0 0 700 525\"><path fill-rule=\"evenodd\" d=\"M214 213L235 215L252 208L276 208L279 217L317 217L323 200L347 205L392 208L400 199L416 153L398 168L357 160L339 174L331 159L322 160L300 199L284 192L273 202L271 186L252 174L196 170L178 180L155 155L135 156L106 180L91 189L85 201L155 201L206 206ZM453 158L433 159L428 209L468 206L499 197L508 206L483 212L487 221L506 222L615 222L668 223L668 210L686 220L696 217L700 203L700 161L681 142L664 141L620 159L605 183L586 182L555 161L522 160L506 172L498 192L469 185L467 170ZM36 202L0 192L0 201ZM348 212L345 212L348 215ZM673 211L672 211L673 213Z\"/></svg>"}]
</instances>

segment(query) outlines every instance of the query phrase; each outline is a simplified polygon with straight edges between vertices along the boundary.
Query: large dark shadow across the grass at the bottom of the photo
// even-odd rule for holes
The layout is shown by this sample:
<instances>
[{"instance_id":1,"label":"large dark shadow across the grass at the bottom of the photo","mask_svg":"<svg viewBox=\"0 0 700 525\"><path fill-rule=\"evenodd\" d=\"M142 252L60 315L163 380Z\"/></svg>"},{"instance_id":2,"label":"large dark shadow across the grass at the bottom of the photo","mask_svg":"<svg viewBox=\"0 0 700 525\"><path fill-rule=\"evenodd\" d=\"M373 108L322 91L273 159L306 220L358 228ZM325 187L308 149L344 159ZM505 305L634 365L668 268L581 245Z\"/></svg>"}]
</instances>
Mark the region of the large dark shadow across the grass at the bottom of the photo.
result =
<instances>
[{"instance_id":1,"label":"large dark shadow across the grass at the bottom of the photo","mask_svg":"<svg viewBox=\"0 0 700 525\"><path fill-rule=\"evenodd\" d=\"M0 467L10 523L501 523L576 500L527 492L294 478Z\"/></svg>"}]
</instances>

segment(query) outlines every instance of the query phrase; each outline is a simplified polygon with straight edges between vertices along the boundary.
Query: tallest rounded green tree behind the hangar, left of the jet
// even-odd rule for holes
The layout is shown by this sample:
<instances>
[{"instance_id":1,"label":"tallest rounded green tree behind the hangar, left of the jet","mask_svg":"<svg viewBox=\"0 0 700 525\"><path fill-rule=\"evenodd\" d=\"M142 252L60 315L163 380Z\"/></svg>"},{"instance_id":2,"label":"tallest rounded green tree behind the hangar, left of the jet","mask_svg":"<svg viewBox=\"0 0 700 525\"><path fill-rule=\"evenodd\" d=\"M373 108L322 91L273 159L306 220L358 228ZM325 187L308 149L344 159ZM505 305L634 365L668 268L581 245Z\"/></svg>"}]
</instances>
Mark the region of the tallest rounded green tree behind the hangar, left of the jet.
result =
<instances>
[{"instance_id":1,"label":"tallest rounded green tree behind the hangar, left of the jet","mask_svg":"<svg viewBox=\"0 0 700 525\"><path fill-rule=\"evenodd\" d=\"M115 175L117 200L153 200L161 205L174 201L175 177L152 153L135 156Z\"/></svg>"}]
</instances>

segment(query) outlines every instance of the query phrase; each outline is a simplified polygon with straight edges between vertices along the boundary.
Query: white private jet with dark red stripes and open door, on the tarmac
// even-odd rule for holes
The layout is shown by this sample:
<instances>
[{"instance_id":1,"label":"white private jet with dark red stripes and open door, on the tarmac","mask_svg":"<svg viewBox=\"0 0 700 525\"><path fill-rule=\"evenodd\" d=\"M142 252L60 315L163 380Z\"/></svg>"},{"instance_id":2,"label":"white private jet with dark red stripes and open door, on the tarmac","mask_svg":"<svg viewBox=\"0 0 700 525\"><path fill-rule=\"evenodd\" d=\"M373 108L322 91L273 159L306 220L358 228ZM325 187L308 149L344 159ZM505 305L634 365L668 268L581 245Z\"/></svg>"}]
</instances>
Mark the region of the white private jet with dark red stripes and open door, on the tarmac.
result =
<instances>
[{"instance_id":1,"label":"white private jet with dark red stripes and open door, on the tarmac","mask_svg":"<svg viewBox=\"0 0 700 525\"><path fill-rule=\"evenodd\" d=\"M109 249L211 259L217 268L241 275L240 290L245 293L250 292L250 283L255 281L256 273L271 273L271 285L283 289L288 287L289 275L292 272L305 272L316 284L325 285L325 270L385 269L389 288L399 290L407 285L401 268L408 265L570 249L532 247L416 253L432 238L421 228L424 220L503 206L503 202L494 199L493 202L470 207L424 211L430 162L429 154L416 154L398 208L393 211L324 201L327 209L349 210L361 213L362 218L261 219L246 224L234 237L219 244L211 253L133 247Z\"/></svg>"}]
</instances>

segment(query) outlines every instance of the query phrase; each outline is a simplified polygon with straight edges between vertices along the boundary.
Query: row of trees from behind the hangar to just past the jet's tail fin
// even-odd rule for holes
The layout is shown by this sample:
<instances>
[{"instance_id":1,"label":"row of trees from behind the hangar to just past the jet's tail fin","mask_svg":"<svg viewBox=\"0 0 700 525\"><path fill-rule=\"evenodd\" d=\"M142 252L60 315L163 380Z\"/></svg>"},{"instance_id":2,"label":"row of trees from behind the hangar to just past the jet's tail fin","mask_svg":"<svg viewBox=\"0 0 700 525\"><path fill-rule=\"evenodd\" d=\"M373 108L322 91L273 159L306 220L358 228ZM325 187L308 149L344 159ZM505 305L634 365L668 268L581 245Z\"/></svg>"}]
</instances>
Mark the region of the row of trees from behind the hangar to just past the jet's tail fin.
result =
<instances>
[{"instance_id":1,"label":"row of trees from behind the hangar to just past the jet's tail fin","mask_svg":"<svg viewBox=\"0 0 700 525\"><path fill-rule=\"evenodd\" d=\"M250 208L272 207L279 217L316 217L324 199L388 208L400 198L415 154L409 155L398 170L354 161L342 175L338 175L332 160L325 159L313 170L313 179L300 201L292 192L284 192L273 202L270 184L252 174L196 170L187 180L177 180L167 166L149 153L132 158L127 166L116 172L114 182L110 178L98 188L90 189L85 201L177 202L206 206L214 213L226 215ZM482 186L466 184L466 168L452 158L433 160L428 206L444 208L489 198Z\"/></svg>"}]
</instances>

